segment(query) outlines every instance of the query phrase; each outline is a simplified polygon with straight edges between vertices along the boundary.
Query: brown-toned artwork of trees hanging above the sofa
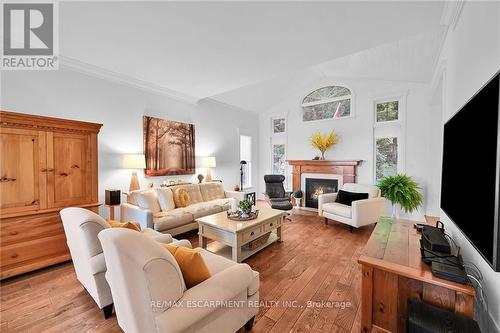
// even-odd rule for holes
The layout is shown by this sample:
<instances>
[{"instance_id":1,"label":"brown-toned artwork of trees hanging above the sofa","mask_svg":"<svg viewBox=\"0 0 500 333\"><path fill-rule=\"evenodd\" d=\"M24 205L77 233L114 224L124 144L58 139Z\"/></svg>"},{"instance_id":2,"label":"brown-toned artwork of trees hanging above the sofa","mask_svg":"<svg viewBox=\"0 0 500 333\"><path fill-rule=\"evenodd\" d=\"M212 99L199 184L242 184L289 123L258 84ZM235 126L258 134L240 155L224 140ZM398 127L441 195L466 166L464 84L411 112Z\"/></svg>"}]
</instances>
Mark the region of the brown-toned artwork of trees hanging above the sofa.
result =
<instances>
[{"instance_id":1,"label":"brown-toned artwork of trees hanging above the sofa","mask_svg":"<svg viewBox=\"0 0 500 333\"><path fill-rule=\"evenodd\" d=\"M143 117L146 176L195 173L194 125Z\"/></svg>"}]
</instances>

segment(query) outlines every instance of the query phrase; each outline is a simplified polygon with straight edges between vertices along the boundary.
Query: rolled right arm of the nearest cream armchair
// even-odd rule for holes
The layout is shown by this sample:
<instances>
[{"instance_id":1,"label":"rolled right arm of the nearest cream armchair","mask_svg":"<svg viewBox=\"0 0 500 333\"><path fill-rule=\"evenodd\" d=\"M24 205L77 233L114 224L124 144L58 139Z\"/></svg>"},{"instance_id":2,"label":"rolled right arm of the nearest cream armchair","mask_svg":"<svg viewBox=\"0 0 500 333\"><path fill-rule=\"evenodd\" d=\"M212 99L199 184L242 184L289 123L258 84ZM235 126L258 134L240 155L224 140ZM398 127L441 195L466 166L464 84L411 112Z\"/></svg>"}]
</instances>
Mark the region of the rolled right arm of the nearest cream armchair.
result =
<instances>
[{"instance_id":1,"label":"rolled right arm of the nearest cream armchair","mask_svg":"<svg viewBox=\"0 0 500 333\"><path fill-rule=\"evenodd\" d=\"M156 318L158 331L184 332L214 311L235 306L231 301L250 286L253 278L252 269L247 264L236 264L213 275L184 292L177 306L170 307Z\"/></svg>"}]
</instances>

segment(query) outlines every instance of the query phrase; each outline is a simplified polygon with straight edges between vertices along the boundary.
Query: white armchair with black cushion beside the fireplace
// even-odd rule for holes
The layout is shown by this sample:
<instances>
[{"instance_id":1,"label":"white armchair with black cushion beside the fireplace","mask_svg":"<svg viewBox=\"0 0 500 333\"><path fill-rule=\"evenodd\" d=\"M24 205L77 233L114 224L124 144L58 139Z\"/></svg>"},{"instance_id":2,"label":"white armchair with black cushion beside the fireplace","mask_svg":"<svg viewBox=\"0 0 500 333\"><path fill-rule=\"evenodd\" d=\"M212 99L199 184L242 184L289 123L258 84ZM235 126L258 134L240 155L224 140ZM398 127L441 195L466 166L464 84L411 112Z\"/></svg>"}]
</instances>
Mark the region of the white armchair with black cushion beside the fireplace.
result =
<instances>
[{"instance_id":1,"label":"white armchair with black cushion beside the fireplace","mask_svg":"<svg viewBox=\"0 0 500 333\"><path fill-rule=\"evenodd\" d=\"M318 215L359 228L367 224L376 223L384 214L385 198L381 197L380 189L373 185L346 183L342 190L356 193L368 193L368 199L356 200L352 206L335 202L337 193L320 194L318 196Z\"/></svg>"}]
</instances>

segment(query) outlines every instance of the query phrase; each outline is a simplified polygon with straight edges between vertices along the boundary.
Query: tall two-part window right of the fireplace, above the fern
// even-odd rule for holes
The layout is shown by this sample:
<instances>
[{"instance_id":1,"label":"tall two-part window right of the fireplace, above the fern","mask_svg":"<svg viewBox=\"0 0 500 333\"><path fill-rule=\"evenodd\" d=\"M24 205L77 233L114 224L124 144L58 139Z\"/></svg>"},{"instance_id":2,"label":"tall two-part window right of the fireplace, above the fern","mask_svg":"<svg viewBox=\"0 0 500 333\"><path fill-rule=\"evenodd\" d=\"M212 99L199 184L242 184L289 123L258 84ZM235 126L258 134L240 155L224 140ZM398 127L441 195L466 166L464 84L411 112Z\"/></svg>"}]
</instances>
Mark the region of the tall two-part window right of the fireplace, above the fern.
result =
<instances>
[{"instance_id":1,"label":"tall two-part window right of the fireplace, above the fern","mask_svg":"<svg viewBox=\"0 0 500 333\"><path fill-rule=\"evenodd\" d=\"M404 171L403 108L406 97L374 102L374 178L394 176Z\"/></svg>"}]
</instances>

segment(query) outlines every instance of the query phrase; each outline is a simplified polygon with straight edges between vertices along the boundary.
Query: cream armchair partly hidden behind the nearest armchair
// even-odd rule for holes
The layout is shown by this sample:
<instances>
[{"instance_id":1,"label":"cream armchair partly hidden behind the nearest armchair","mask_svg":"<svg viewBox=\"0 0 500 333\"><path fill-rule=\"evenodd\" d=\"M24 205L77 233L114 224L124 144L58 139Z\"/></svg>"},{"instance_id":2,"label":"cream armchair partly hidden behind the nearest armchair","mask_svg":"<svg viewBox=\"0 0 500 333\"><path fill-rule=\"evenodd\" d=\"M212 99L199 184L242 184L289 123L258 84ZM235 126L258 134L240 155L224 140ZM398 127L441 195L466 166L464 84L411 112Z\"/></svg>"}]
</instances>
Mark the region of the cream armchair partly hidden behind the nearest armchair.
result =
<instances>
[{"instance_id":1,"label":"cream armchair partly hidden behind the nearest armchair","mask_svg":"<svg viewBox=\"0 0 500 333\"><path fill-rule=\"evenodd\" d=\"M101 216L83 208L64 208L60 214L76 277L92 296L97 306L103 310L104 317L107 319L113 312L113 298L104 277L106 262L97 234L102 230L111 229L111 226ZM142 234L160 243L174 243L191 247L191 243L187 240L177 241L171 235L162 234L152 229L145 229L141 233L132 232L138 235ZM135 246L131 246L131 248L135 249Z\"/></svg>"}]
</instances>

